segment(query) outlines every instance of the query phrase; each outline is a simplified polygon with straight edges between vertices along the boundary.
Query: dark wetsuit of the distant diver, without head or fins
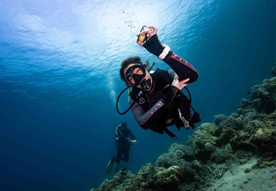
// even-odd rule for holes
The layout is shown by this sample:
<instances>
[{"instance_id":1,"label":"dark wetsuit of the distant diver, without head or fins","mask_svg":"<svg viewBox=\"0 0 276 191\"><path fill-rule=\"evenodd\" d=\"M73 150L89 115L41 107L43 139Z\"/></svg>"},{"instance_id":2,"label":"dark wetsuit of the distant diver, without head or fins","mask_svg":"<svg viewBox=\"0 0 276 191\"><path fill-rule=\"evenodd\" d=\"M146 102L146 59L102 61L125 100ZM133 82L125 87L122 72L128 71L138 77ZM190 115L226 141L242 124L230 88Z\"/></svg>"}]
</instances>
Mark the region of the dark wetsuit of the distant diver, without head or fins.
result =
<instances>
[{"instance_id":1,"label":"dark wetsuit of the distant diver, without head or fins","mask_svg":"<svg viewBox=\"0 0 276 191\"><path fill-rule=\"evenodd\" d=\"M129 150L130 150L130 142L129 140L137 140L136 137L132 134L130 129L127 129L127 131L122 132L120 131L120 126L118 127L118 134L116 133L115 136L118 138L118 141L116 140L115 146L117 148L117 156L114 159L116 163L119 163L120 160L124 160L125 162L128 162L129 159ZM124 154L124 157L122 157L122 154Z\"/></svg>"}]
</instances>

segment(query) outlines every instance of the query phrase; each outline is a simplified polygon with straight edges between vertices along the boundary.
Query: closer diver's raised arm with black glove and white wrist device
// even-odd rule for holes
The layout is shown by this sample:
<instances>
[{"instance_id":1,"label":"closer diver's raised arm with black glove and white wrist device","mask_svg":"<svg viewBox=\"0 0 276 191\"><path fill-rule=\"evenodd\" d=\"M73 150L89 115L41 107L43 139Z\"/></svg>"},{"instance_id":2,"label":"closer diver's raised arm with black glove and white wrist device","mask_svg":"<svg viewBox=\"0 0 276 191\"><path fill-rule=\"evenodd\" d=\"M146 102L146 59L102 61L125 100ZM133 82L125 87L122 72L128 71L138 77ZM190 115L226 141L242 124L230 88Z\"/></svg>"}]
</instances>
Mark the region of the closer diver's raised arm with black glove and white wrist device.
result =
<instances>
[{"instance_id":1,"label":"closer diver's raised arm with black glove and white wrist device","mask_svg":"<svg viewBox=\"0 0 276 191\"><path fill-rule=\"evenodd\" d=\"M150 53L157 56L159 59L162 59L166 64L168 64L174 72L179 76L181 80L190 78L187 83L192 83L197 80L198 73L197 70L185 59L181 58L177 54L169 51L170 48L166 45L165 47L160 43L158 36L156 34L157 29L154 26L149 26L149 29L141 31L137 34L139 35L147 35L146 42L138 41L137 44L145 47ZM153 32L150 30L153 29Z\"/></svg>"}]
</instances>

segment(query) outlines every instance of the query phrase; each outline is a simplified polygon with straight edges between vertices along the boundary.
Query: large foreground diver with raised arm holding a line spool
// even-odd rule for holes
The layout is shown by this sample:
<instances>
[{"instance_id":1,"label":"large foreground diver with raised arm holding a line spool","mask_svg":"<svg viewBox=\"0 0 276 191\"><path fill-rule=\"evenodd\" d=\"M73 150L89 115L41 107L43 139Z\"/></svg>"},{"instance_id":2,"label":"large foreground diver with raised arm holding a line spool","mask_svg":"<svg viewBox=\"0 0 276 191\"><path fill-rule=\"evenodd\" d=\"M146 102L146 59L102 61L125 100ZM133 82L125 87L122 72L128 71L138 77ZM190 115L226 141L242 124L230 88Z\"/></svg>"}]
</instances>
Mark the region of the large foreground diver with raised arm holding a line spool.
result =
<instances>
[{"instance_id":1,"label":"large foreground diver with raised arm holding a line spool","mask_svg":"<svg viewBox=\"0 0 276 191\"><path fill-rule=\"evenodd\" d=\"M198 73L195 68L177 54L170 51L168 45L161 45L157 37L155 26L143 26L140 34L137 34L137 43L146 48L150 53L163 60L170 70L156 69L155 72L147 69L149 65L142 64L140 57L130 57L121 63L120 79L129 89L129 108L121 113L118 110L118 100L116 109L119 114L125 114L130 109L136 122L143 129L150 129L154 132L167 133L171 138L176 139L167 127L176 125L177 129L194 129L195 123L200 122L199 114L191 107L191 96L185 87L188 83L197 80ZM140 40L144 37L144 40ZM154 63L153 63L154 64ZM190 99L182 92L182 88L188 91ZM194 111L192 115L192 111Z\"/></svg>"}]
</instances>

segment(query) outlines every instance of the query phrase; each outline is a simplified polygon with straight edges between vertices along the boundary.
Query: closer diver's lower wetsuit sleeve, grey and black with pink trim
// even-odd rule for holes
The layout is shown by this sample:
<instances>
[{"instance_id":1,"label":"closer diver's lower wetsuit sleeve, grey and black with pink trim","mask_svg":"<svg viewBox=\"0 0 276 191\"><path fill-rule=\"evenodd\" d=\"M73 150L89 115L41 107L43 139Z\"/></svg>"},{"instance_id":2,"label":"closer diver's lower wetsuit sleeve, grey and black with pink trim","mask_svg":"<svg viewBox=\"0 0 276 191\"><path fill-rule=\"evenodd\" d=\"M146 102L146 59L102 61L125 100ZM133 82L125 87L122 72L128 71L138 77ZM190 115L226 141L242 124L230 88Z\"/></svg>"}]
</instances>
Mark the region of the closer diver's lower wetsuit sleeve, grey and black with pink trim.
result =
<instances>
[{"instance_id":1,"label":"closer diver's lower wetsuit sleeve, grey and black with pink trim","mask_svg":"<svg viewBox=\"0 0 276 191\"><path fill-rule=\"evenodd\" d=\"M171 86L170 90L166 95L163 96L161 100L159 100L152 108L150 108L147 112L139 105L139 103L135 103L131 108L132 114L136 122L143 129L150 129L157 133L163 133L163 129L158 127L157 121L163 117L166 113L166 107L169 102L174 98L178 91L178 88ZM128 98L128 103L131 105L133 100L131 97Z\"/></svg>"}]
</instances>

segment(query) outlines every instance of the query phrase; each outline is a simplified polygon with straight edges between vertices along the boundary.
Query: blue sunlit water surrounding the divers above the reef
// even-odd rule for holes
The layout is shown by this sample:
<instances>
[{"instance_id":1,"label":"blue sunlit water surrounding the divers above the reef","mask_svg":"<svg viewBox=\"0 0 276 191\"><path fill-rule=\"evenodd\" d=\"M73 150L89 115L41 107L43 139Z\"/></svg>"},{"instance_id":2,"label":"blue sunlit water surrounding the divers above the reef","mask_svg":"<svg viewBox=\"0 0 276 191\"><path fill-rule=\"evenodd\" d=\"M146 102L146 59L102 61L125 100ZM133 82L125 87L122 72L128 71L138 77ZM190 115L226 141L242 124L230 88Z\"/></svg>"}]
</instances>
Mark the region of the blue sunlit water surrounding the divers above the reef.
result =
<instances>
[{"instance_id":1,"label":"blue sunlit water surrounding the divers above the reef","mask_svg":"<svg viewBox=\"0 0 276 191\"><path fill-rule=\"evenodd\" d=\"M275 1L133 3L142 24L155 25L161 43L197 69L188 88L202 122L229 116L253 85L272 77ZM113 125L122 120L138 140L121 162L131 172L192 135L170 128L175 141L116 112L123 59L142 56L169 69L135 44L142 24L128 0L0 2L1 190L99 187L112 179L104 172L116 154ZM119 106L128 108L127 93Z\"/></svg>"}]
</instances>

